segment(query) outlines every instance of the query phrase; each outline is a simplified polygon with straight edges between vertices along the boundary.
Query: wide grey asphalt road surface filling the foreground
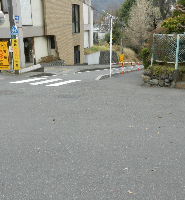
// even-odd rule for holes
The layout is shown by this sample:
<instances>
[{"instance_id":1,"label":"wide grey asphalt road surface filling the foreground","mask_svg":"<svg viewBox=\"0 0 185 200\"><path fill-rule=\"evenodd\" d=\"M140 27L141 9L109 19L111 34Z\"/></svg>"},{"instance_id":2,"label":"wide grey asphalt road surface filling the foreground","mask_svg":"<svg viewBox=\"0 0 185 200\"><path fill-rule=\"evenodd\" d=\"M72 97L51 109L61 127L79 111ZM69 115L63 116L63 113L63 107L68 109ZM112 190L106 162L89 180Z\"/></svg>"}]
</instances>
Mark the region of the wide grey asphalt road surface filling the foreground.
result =
<instances>
[{"instance_id":1,"label":"wide grey asphalt road surface filling the foreground","mask_svg":"<svg viewBox=\"0 0 185 200\"><path fill-rule=\"evenodd\" d=\"M0 199L184 200L184 90L72 71L0 74Z\"/></svg>"}]
</instances>

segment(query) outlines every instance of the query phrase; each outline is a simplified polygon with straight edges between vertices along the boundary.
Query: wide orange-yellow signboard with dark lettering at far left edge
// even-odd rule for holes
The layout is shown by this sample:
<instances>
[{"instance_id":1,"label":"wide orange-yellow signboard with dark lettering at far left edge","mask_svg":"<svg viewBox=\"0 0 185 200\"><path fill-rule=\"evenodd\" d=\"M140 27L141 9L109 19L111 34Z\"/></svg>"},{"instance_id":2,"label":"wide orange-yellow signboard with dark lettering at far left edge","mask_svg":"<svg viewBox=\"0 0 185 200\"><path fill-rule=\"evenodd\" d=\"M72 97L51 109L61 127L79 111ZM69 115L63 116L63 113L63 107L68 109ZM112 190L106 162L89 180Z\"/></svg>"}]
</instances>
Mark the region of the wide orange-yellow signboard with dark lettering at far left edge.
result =
<instances>
[{"instance_id":1,"label":"wide orange-yellow signboard with dark lettering at far left edge","mask_svg":"<svg viewBox=\"0 0 185 200\"><path fill-rule=\"evenodd\" d=\"M0 70L9 70L8 42L0 42Z\"/></svg>"}]
</instances>

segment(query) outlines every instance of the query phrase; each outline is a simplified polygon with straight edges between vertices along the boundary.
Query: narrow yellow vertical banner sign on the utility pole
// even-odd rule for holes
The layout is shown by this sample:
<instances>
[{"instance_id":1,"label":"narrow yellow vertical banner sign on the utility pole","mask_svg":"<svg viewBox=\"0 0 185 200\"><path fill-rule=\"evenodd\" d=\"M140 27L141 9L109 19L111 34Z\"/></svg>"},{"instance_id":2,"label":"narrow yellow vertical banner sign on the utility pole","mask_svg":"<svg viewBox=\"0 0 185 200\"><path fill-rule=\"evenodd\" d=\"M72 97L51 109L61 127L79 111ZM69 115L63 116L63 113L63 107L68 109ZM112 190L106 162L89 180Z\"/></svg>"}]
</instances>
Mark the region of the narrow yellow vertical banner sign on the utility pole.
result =
<instances>
[{"instance_id":1,"label":"narrow yellow vertical banner sign on the utility pole","mask_svg":"<svg viewBox=\"0 0 185 200\"><path fill-rule=\"evenodd\" d=\"M17 39L12 39L12 47L14 70L20 70L19 43Z\"/></svg>"}]
</instances>

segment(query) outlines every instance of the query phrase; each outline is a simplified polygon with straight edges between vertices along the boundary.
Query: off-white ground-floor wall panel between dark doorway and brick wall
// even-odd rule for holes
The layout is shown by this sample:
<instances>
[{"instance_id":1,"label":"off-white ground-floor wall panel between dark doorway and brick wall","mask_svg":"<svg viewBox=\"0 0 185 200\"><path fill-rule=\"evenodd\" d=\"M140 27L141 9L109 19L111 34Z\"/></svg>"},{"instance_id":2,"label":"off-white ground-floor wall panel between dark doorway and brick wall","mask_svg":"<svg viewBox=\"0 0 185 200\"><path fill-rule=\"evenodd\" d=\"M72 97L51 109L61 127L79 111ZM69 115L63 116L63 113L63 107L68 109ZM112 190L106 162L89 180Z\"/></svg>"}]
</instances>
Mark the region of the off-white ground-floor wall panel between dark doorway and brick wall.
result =
<instances>
[{"instance_id":1,"label":"off-white ground-floor wall panel between dark doorway and brick wall","mask_svg":"<svg viewBox=\"0 0 185 200\"><path fill-rule=\"evenodd\" d=\"M37 62L41 57L48 56L47 41L47 37L34 37L35 56Z\"/></svg>"}]
</instances>

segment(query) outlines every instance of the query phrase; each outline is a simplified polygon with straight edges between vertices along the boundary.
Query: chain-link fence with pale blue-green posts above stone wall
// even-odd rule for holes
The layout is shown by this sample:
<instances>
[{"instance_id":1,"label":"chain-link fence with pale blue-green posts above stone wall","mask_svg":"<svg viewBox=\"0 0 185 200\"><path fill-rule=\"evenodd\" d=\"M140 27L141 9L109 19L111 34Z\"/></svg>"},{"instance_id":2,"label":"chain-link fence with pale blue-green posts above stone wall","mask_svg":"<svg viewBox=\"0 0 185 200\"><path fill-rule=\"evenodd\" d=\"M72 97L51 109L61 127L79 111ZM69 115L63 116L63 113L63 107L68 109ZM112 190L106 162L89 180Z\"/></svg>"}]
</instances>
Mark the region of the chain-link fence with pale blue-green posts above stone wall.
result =
<instances>
[{"instance_id":1,"label":"chain-link fence with pale blue-green posts above stone wall","mask_svg":"<svg viewBox=\"0 0 185 200\"><path fill-rule=\"evenodd\" d=\"M152 58L156 62L178 63L185 62L185 34L153 34Z\"/></svg>"}]
</instances>

